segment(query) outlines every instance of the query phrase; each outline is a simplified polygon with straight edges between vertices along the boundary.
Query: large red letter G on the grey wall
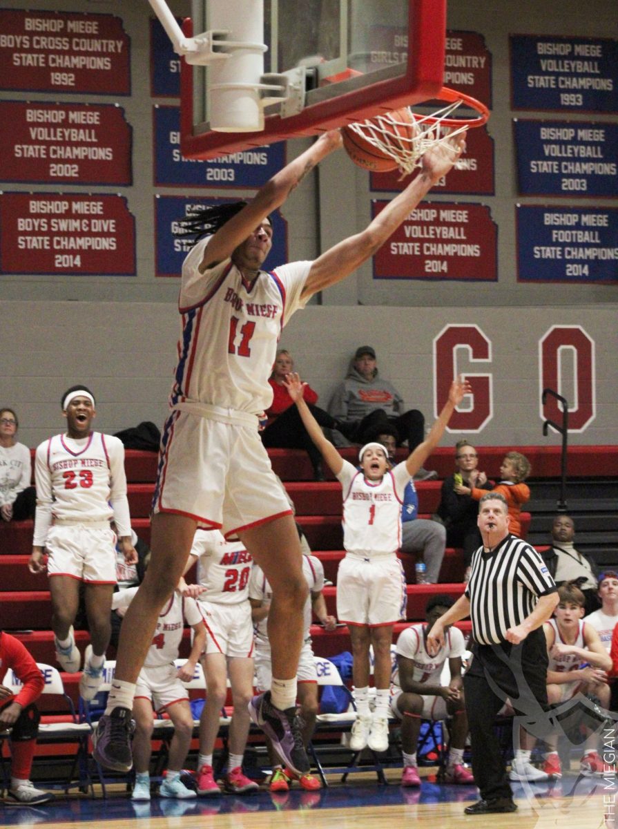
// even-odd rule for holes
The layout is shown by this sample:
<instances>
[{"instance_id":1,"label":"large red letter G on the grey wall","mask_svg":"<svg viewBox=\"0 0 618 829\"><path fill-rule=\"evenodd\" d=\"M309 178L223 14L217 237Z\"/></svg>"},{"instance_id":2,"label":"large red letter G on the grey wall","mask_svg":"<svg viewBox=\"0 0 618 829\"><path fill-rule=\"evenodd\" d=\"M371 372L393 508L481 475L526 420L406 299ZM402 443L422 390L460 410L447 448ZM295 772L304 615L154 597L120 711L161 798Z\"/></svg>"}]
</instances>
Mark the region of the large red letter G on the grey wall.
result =
<instances>
[{"instance_id":1,"label":"large red letter G on the grey wall","mask_svg":"<svg viewBox=\"0 0 618 829\"><path fill-rule=\"evenodd\" d=\"M492 376L461 371L458 351L465 351L466 362L491 362L491 342L476 325L447 325L433 340L434 408L437 414L448 400L451 382L458 374L470 381L472 394L464 398L447 426L449 432L480 432L494 416Z\"/></svg>"}]
</instances>

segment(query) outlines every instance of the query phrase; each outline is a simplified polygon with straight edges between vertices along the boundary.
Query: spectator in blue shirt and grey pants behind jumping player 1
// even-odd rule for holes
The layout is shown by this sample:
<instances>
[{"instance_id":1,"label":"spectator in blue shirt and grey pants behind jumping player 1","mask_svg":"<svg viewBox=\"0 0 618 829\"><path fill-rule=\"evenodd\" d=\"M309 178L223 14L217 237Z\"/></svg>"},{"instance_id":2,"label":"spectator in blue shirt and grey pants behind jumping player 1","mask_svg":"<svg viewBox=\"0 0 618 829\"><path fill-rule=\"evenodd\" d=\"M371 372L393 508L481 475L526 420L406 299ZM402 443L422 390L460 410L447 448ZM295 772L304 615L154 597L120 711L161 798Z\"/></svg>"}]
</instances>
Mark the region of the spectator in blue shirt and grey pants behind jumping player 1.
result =
<instances>
[{"instance_id":1,"label":"spectator in blue shirt and grey pants behind jumping player 1","mask_svg":"<svg viewBox=\"0 0 618 829\"><path fill-rule=\"evenodd\" d=\"M389 462L394 465L397 439L393 434L393 427L385 426L377 435L379 444L386 447L389 453ZM408 486L403 492L403 507L401 510L401 551L403 553L420 554L427 568L425 580L427 584L436 584L440 576L442 559L447 543L447 531L438 521L418 517L418 492L410 478Z\"/></svg>"}]
</instances>

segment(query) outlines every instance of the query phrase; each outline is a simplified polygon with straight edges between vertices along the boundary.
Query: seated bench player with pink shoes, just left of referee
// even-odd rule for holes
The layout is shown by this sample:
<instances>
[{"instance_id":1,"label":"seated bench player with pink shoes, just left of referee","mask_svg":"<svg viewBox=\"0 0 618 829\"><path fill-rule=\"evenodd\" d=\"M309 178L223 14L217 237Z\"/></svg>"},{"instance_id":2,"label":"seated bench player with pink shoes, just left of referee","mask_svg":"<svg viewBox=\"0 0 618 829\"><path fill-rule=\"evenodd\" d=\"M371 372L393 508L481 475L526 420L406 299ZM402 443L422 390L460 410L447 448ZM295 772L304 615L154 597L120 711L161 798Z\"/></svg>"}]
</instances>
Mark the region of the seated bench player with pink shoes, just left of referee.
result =
<instances>
[{"instance_id":1,"label":"seated bench player with pink shoes, just left of referee","mask_svg":"<svg viewBox=\"0 0 618 829\"><path fill-rule=\"evenodd\" d=\"M461 678L461 657L466 651L463 633L458 628L445 630L445 642L432 656L427 653L427 634L437 618L454 604L447 595L432 596L425 608L426 624L410 625L397 640L397 667L393 671L390 707L401 720L403 749L402 786L420 786L417 745L421 719L446 720L449 725L448 764L445 783L474 783L463 765L468 734L468 718ZM449 681L442 685L442 669L448 659Z\"/></svg>"}]
</instances>

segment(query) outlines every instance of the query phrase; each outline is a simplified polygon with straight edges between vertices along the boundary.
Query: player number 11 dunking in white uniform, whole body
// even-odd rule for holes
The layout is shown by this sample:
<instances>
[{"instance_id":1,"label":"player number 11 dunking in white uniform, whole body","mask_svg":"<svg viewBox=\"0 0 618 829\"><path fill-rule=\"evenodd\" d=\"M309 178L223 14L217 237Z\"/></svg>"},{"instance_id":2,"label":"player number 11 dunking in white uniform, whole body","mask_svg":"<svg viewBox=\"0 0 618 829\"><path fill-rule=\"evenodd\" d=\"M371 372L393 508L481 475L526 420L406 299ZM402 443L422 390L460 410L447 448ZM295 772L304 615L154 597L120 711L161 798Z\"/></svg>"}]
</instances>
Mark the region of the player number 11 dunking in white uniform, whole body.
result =
<instances>
[{"instance_id":1,"label":"player number 11 dunking in white uniform, whole body","mask_svg":"<svg viewBox=\"0 0 618 829\"><path fill-rule=\"evenodd\" d=\"M296 773L308 771L295 708L307 584L290 507L258 436L258 416L273 399L268 376L284 323L314 293L344 279L378 250L449 172L464 140L459 136L429 150L418 175L359 234L313 262L283 265L272 274L260 270L272 246L268 214L340 145L338 130L324 133L249 204L211 208L191 223L196 245L182 268L179 359L162 434L152 557L128 609L109 704L94 734L95 757L108 768L132 766L135 680L159 609L202 527L238 536L273 588L273 684L253 699L250 712L282 761Z\"/></svg>"}]
</instances>

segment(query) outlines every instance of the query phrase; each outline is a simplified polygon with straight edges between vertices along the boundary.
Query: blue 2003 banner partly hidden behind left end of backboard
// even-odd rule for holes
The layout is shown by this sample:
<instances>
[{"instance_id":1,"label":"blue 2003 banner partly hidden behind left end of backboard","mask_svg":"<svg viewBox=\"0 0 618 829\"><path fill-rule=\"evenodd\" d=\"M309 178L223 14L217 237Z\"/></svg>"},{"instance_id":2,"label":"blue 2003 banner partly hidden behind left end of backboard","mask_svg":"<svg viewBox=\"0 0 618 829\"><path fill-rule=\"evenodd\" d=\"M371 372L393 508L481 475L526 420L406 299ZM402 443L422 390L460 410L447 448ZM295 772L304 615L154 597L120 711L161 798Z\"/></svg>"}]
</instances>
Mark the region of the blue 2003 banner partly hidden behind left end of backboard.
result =
<instances>
[{"instance_id":1,"label":"blue 2003 banner partly hidden behind left end of backboard","mask_svg":"<svg viewBox=\"0 0 618 829\"><path fill-rule=\"evenodd\" d=\"M154 183L157 187L262 187L285 167L285 142L230 153L210 161L182 158L181 110L177 106L152 109Z\"/></svg>"}]
</instances>

